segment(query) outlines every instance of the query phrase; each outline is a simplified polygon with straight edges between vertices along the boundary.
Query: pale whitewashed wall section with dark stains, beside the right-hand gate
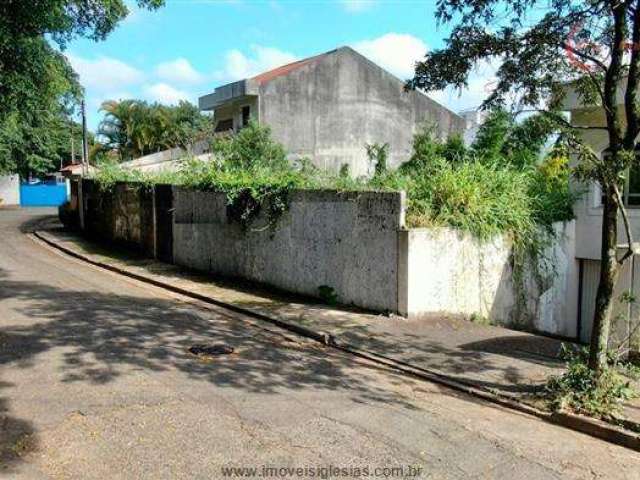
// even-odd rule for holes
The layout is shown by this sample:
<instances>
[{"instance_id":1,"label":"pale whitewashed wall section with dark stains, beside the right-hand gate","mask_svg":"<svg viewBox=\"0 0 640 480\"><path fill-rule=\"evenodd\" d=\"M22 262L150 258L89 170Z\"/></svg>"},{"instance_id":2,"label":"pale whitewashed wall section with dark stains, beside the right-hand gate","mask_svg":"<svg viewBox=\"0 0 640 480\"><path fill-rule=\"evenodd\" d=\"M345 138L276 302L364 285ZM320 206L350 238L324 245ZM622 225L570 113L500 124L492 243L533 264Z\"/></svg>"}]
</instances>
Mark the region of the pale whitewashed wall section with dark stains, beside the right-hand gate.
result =
<instances>
[{"instance_id":1,"label":"pale whitewashed wall section with dark stains, beside the right-hand gate","mask_svg":"<svg viewBox=\"0 0 640 480\"><path fill-rule=\"evenodd\" d=\"M451 228L400 232L400 312L475 314L503 325L575 335L575 224L555 229L557 243L541 255L541 278L534 280L532 269L525 269L517 285L512 244L504 236L482 242Z\"/></svg>"}]
</instances>

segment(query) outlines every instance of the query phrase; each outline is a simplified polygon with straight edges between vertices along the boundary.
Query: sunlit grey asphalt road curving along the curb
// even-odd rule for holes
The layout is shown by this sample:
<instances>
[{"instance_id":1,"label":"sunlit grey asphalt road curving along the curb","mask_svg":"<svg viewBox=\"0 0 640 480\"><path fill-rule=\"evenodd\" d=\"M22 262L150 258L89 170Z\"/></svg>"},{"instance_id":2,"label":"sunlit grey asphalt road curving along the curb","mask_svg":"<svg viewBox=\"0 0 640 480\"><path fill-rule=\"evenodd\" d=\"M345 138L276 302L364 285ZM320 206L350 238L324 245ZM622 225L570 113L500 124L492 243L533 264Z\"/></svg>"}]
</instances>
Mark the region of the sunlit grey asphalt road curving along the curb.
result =
<instances>
[{"instance_id":1,"label":"sunlit grey asphalt road curving along the curb","mask_svg":"<svg viewBox=\"0 0 640 480\"><path fill-rule=\"evenodd\" d=\"M52 252L23 233L50 213L0 210L0 478L640 478L633 451Z\"/></svg>"}]
</instances>

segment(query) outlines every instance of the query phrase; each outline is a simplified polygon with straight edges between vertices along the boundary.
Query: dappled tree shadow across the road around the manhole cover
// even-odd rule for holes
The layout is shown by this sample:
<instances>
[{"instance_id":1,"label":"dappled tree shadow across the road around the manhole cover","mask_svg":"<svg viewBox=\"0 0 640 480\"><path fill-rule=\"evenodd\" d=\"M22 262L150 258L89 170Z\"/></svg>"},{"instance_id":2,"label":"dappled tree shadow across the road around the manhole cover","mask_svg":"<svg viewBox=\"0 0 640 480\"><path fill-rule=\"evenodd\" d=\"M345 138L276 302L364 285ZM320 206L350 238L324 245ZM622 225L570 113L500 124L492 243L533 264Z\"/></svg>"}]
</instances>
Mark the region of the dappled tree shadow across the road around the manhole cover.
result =
<instances>
[{"instance_id":1,"label":"dappled tree shadow across the road around the manhole cover","mask_svg":"<svg viewBox=\"0 0 640 480\"><path fill-rule=\"evenodd\" d=\"M142 293L69 290L51 283L0 274L0 302L10 302L5 308L24 321L0 319L0 369L12 373L9 380L14 384L15 378L22 378L16 372L26 374L48 364L46 368L58 375L52 384L104 385L140 370L177 372L223 389L260 394L338 391L354 402L415 408L402 395L376 387L376 372L354 369L354 359L319 344L292 341L277 329L252 326L223 309L209 311ZM203 361L189 352L196 344L225 344L235 352ZM13 387L0 384L9 399ZM7 398L0 399L0 433L8 445L28 438L32 448L37 432L28 421L11 416ZM21 452L9 453L3 459L5 470L20 461Z\"/></svg>"}]
</instances>

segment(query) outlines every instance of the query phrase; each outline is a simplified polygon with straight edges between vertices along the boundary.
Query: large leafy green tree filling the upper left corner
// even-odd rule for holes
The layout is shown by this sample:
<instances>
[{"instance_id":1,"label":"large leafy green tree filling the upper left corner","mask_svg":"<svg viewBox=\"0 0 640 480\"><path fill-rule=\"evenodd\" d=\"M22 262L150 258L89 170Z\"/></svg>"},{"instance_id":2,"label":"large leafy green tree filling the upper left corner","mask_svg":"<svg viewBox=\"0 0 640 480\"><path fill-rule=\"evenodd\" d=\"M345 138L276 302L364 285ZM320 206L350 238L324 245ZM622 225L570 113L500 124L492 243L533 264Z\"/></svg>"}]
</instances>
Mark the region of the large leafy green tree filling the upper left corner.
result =
<instances>
[{"instance_id":1,"label":"large leafy green tree filling the upper left corner","mask_svg":"<svg viewBox=\"0 0 640 480\"><path fill-rule=\"evenodd\" d=\"M164 0L137 3L154 9ZM104 39L127 13L124 0L0 2L1 170L51 168L52 123L66 121L81 93L60 50L77 37Z\"/></svg>"}]
</instances>

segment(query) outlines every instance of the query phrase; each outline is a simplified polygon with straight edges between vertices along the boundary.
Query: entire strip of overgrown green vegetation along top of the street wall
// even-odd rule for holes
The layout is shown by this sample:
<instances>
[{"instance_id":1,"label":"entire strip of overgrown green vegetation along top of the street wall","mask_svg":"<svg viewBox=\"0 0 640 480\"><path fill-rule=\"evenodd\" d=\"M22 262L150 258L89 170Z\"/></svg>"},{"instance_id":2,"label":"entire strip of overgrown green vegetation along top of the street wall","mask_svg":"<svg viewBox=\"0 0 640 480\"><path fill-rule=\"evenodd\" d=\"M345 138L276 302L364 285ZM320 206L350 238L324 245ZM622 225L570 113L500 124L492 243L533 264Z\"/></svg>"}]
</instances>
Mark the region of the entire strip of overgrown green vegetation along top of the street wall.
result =
<instances>
[{"instance_id":1,"label":"entire strip of overgrown green vegetation along top of the street wall","mask_svg":"<svg viewBox=\"0 0 640 480\"><path fill-rule=\"evenodd\" d=\"M480 238L505 232L527 237L540 225L550 228L553 222L572 218L576 196L569 190L564 150L555 148L539 160L544 146L538 136L541 122L531 118L517 124L505 118L502 111L491 114L471 147L459 136L439 139L434 128L425 127L415 135L411 158L396 170L388 168L388 146L368 145L375 164L371 178L353 178L346 167L331 175L304 159L292 165L269 128L251 122L236 135L216 137L209 162L189 159L179 172L160 176L110 165L96 180L105 185L125 180L222 191L232 219L244 226L263 209L270 222L277 219L287 209L293 189L405 190L410 227L452 226ZM528 135L528 129L536 135ZM507 147L509 142L519 150Z\"/></svg>"}]
</instances>

